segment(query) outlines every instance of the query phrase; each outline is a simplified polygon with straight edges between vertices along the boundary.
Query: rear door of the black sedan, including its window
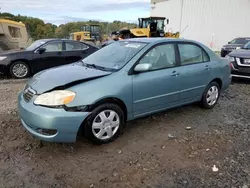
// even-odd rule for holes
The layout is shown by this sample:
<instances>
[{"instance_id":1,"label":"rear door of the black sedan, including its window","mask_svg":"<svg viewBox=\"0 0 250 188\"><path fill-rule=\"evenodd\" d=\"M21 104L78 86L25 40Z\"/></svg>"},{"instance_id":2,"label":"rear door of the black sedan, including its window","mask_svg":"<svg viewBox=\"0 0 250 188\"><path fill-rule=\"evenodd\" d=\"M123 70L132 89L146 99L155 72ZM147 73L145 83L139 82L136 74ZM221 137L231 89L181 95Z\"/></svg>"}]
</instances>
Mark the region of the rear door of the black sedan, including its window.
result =
<instances>
[{"instance_id":1,"label":"rear door of the black sedan, including its window","mask_svg":"<svg viewBox=\"0 0 250 188\"><path fill-rule=\"evenodd\" d=\"M65 41L65 57L66 64L77 62L91 54L90 47L81 42Z\"/></svg>"}]
</instances>

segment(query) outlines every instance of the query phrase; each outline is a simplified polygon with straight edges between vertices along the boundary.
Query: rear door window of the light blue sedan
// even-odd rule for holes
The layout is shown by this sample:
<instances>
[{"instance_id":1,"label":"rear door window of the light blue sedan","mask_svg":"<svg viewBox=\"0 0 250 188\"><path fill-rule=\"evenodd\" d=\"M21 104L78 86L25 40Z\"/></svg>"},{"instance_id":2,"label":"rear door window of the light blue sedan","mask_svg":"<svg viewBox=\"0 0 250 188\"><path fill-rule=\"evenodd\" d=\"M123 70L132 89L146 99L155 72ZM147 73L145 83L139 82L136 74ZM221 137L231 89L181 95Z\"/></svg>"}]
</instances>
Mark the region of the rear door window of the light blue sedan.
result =
<instances>
[{"instance_id":1,"label":"rear door window of the light blue sedan","mask_svg":"<svg viewBox=\"0 0 250 188\"><path fill-rule=\"evenodd\" d=\"M182 65L202 63L209 61L207 53L193 44L178 44Z\"/></svg>"}]
</instances>

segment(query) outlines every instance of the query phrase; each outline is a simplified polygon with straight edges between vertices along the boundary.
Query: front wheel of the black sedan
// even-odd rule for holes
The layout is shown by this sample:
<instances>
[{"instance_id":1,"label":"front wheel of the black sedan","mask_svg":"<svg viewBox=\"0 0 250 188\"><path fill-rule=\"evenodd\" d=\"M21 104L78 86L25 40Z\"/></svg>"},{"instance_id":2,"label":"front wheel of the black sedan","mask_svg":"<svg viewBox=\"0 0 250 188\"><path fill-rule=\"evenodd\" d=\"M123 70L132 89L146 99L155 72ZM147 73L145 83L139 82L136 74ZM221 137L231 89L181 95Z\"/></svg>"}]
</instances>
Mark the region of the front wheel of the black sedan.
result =
<instances>
[{"instance_id":1,"label":"front wheel of the black sedan","mask_svg":"<svg viewBox=\"0 0 250 188\"><path fill-rule=\"evenodd\" d=\"M30 75L30 67L23 61L16 61L10 66L10 76L15 79L27 78Z\"/></svg>"}]
</instances>

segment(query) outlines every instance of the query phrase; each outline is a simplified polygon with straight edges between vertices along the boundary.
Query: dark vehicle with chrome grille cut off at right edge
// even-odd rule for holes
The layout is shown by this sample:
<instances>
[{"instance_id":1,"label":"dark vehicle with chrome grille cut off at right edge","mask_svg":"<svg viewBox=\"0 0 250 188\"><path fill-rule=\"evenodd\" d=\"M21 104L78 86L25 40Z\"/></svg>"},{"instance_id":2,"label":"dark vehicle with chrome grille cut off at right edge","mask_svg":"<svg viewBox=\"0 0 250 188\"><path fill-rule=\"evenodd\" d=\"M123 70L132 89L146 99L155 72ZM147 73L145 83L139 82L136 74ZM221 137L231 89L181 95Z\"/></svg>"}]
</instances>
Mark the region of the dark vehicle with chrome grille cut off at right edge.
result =
<instances>
[{"instance_id":1,"label":"dark vehicle with chrome grille cut off at right edge","mask_svg":"<svg viewBox=\"0 0 250 188\"><path fill-rule=\"evenodd\" d=\"M232 77L250 79L250 42L228 54L227 58L231 63Z\"/></svg>"}]
</instances>

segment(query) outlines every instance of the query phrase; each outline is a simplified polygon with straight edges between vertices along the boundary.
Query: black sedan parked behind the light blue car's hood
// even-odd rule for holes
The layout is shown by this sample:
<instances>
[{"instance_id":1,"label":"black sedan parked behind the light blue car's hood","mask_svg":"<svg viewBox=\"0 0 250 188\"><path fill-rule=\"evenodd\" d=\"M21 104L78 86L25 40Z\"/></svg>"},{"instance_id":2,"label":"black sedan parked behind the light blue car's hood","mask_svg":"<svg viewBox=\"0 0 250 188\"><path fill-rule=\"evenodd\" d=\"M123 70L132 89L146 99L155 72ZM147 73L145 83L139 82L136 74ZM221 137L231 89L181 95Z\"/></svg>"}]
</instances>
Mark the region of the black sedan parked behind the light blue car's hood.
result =
<instances>
[{"instance_id":1,"label":"black sedan parked behind the light blue car's hood","mask_svg":"<svg viewBox=\"0 0 250 188\"><path fill-rule=\"evenodd\" d=\"M25 78L42 70L77 62L99 48L67 39L42 39L22 51L0 53L0 73Z\"/></svg>"}]
</instances>

